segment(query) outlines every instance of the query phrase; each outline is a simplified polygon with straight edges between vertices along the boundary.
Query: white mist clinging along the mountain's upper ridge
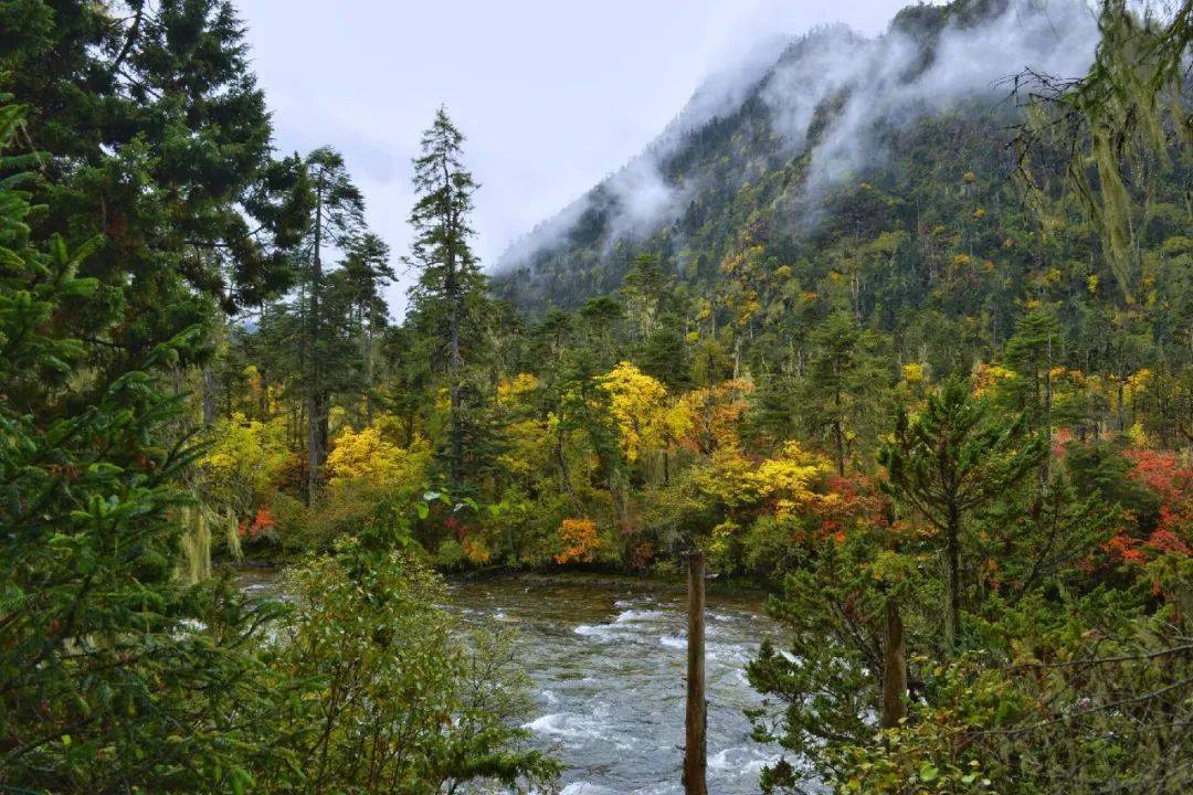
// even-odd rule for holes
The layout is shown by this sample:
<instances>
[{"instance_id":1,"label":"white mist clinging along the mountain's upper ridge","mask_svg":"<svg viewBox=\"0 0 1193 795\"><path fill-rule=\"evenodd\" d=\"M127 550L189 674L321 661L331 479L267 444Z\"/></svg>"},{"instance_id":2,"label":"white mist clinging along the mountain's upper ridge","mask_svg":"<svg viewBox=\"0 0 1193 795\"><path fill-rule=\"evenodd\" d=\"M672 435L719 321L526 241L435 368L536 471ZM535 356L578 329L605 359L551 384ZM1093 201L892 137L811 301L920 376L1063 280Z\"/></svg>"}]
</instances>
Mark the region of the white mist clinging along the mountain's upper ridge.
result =
<instances>
[{"instance_id":1,"label":"white mist clinging along the mountain's upper ridge","mask_svg":"<svg viewBox=\"0 0 1193 795\"><path fill-rule=\"evenodd\" d=\"M927 66L922 44L898 29L866 38L845 25L828 25L795 41L767 39L717 69L644 153L515 242L497 269L565 243L591 209L606 212L606 248L674 221L698 186L669 180L667 159L691 132L733 114L753 97L766 106L790 154L809 155L801 204L814 206L826 190L882 162L888 153L880 129L910 124L964 98L984 97L993 107L1006 97L1002 82L1027 68L1082 75L1096 43L1094 14L1081 0L1010 0L993 19L968 27L950 23ZM808 151L816 112L830 101L840 106Z\"/></svg>"}]
</instances>

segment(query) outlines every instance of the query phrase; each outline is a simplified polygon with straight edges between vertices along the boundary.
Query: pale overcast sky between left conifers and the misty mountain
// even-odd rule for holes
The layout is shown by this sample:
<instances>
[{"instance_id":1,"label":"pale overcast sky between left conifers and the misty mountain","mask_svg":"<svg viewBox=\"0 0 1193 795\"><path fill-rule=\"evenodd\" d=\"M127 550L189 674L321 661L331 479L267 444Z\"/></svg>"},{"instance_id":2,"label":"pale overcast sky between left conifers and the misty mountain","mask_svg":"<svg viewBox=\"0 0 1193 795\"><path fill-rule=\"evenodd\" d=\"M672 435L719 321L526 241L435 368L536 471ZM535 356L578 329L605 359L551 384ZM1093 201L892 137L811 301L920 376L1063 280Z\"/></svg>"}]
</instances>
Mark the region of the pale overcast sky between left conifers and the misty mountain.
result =
<instances>
[{"instance_id":1,"label":"pale overcast sky between left conifers and the misty mountain","mask_svg":"<svg viewBox=\"0 0 1193 795\"><path fill-rule=\"evenodd\" d=\"M649 143L710 72L775 36L886 29L910 0L239 0L283 153L330 144L407 251L410 157L444 104L482 188L475 250L513 240ZM401 266L398 266L401 268ZM404 285L390 291L401 312Z\"/></svg>"}]
</instances>

